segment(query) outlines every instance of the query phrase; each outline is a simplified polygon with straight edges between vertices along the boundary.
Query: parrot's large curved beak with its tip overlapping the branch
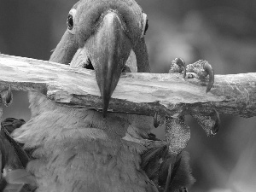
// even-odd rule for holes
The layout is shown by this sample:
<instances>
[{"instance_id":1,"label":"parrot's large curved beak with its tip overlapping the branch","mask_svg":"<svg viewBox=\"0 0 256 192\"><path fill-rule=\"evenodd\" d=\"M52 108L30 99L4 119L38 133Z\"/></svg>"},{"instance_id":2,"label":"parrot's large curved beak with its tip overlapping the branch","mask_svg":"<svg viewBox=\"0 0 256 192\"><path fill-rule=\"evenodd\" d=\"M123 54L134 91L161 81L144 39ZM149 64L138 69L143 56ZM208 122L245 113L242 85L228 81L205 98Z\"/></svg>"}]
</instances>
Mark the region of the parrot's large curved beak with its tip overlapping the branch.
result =
<instances>
[{"instance_id":1,"label":"parrot's large curved beak with its tip overlapping the branch","mask_svg":"<svg viewBox=\"0 0 256 192\"><path fill-rule=\"evenodd\" d=\"M113 11L108 12L84 48L96 71L102 96L102 113L106 117L113 90L131 53L131 40L125 35L119 16Z\"/></svg>"}]
</instances>

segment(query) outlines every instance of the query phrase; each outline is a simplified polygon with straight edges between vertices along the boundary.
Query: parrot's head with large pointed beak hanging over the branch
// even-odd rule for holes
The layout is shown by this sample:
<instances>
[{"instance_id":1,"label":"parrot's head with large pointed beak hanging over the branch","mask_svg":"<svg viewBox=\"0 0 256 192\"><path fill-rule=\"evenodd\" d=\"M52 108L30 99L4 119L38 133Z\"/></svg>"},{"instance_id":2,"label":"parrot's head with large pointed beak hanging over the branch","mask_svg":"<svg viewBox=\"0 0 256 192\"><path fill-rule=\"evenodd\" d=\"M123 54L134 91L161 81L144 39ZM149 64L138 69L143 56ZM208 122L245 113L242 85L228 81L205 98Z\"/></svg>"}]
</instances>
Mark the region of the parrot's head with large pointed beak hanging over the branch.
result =
<instances>
[{"instance_id":1,"label":"parrot's head with large pointed beak hanging over the branch","mask_svg":"<svg viewBox=\"0 0 256 192\"><path fill-rule=\"evenodd\" d=\"M102 95L103 116L118 84L125 62L136 55L138 72L149 72L144 35L147 15L133 0L81 0L67 16L67 31L49 61L75 62L78 49L84 67L96 71Z\"/></svg>"}]
</instances>

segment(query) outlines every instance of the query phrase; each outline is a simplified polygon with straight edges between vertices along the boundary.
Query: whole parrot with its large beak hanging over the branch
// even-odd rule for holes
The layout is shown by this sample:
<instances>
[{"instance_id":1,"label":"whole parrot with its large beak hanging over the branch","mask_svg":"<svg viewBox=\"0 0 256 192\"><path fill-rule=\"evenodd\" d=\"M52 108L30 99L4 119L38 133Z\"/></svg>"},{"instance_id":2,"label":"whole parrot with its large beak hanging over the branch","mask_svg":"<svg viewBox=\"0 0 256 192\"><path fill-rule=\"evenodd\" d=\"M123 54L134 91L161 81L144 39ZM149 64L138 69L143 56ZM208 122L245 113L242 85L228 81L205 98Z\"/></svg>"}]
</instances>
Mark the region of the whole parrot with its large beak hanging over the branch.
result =
<instances>
[{"instance_id":1,"label":"whole parrot with its large beak hanging over the branch","mask_svg":"<svg viewBox=\"0 0 256 192\"><path fill-rule=\"evenodd\" d=\"M32 117L12 137L31 157L26 171L36 178L36 191L180 192L194 183L183 152L189 139L183 116L165 117L171 136L162 142L150 132L160 124L157 112L154 118L108 112L121 73L150 72L147 30L148 17L134 0L80 0L73 5L49 61L94 70L102 111L28 93ZM209 82L213 80L211 76ZM175 143L172 136L180 133L183 137Z\"/></svg>"}]
</instances>

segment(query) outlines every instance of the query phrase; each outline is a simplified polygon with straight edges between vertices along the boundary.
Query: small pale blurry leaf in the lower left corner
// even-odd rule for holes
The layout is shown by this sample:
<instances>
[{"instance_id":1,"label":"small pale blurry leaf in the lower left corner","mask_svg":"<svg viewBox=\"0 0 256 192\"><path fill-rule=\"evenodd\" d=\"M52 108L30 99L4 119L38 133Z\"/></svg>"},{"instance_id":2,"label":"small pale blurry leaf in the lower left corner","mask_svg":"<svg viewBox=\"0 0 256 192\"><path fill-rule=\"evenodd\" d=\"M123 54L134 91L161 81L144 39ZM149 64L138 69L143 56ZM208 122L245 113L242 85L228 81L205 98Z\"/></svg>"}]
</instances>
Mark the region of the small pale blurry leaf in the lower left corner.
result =
<instances>
[{"instance_id":1,"label":"small pale blurry leaf in the lower left corner","mask_svg":"<svg viewBox=\"0 0 256 192\"><path fill-rule=\"evenodd\" d=\"M21 184L26 183L31 186L36 186L36 179L25 169L16 169L14 171L8 172L5 177L7 183Z\"/></svg>"}]
</instances>

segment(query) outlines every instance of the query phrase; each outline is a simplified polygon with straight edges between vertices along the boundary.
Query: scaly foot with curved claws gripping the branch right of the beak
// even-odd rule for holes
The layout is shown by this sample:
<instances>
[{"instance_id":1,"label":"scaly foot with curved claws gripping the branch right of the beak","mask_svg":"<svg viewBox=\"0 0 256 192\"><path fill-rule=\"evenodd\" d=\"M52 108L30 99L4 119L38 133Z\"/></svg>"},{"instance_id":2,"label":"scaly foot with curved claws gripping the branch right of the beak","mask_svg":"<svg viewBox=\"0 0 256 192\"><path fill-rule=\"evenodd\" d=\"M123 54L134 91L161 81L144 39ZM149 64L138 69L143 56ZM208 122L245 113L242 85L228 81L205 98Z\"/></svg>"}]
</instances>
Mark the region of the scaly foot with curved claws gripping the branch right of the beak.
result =
<instances>
[{"instance_id":1,"label":"scaly foot with curved claws gripping the branch right of the beak","mask_svg":"<svg viewBox=\"0 0 256 192\"><path fill-rule=\"evenodd\" d=\"M207 61L197 61L194 64L189 64L186 66L185 62L181 58L176 58L172 61L171 69L169 73L181 73L183 72L183 78L184 79L206 79L209 75L209 80L207 83L207 90L206 92L209 92L212 89L212 84L214 83L214 71L212 69L212 66ZM206 131L208 137L212 137L217 134L219 130L220 125L220 119L218 115L218 111L215 108L212 108L212 115L206 116L202 115L201 113L195 113L193 111L190 111L190 115L197 121L199 125L202 126L204 131ZM160 119L160 120L159 120ZM177 121L177 123L174 123L175 125L180 125L180 127L183 127L183 130L185 131L187 129L187 125L184 123L184 115L181 114L177 118L172 117L165 117L166 122L170 122L169 124L166 124L166 134L168 135L168 131L175 130L172 129L173 123ZM154 115L154 127L158 127L159 125L162 125L164 121L163 117L159 117L158 113L155 113ZM173 122L172 122L173 121ZM175 127L175 126L174 126ZM178 135L178 134L177 134ZM183 146L186 146L186 143L189 141L189 137L186 139L184 137L183 139ZM169 136L169 138L172 136ZM172 140L172 139L171 139ZM173 149L173 153L178 154L183 147L180 149Z\"/></svg>"}]
</instances>

